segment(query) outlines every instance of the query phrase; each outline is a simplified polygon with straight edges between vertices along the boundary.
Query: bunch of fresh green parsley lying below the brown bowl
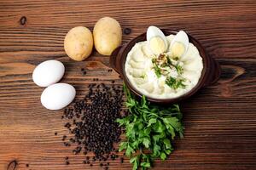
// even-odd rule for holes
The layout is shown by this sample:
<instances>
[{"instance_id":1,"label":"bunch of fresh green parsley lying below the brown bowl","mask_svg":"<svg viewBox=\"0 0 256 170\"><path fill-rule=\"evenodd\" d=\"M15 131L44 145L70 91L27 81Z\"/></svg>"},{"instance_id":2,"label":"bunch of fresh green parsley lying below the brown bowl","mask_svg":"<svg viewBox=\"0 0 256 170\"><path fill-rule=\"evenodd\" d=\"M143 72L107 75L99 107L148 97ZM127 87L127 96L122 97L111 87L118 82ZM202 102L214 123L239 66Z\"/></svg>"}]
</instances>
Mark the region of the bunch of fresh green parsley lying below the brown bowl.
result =
<instances>
[{"instance_id":1,"label":"bunch of fresh green parsley lying below the brown bowl","mask_svg":"<svg viewBox=\"0 0 256 170\"><path fill-rule=\"evenodd\" d=\"M124 85L128 116L117 119L125 127L125 141L119 144L119 151L131 158L133 170L152 167L155 158L166 160L172 153L172 140L178 133L183 138L182 113L178 105L161 107L151 105L145 96L137 101Z\"/></svg>"}]
</instances>

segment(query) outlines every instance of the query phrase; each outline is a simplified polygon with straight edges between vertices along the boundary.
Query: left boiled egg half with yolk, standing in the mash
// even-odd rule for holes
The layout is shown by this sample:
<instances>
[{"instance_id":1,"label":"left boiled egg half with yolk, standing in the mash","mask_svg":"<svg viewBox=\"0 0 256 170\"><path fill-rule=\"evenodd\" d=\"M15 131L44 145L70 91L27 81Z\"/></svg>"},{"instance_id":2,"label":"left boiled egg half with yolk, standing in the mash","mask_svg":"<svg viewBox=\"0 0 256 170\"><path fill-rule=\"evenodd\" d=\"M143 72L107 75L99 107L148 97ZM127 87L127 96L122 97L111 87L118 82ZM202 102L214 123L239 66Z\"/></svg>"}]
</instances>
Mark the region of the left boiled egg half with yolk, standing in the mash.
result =
<instances>
[{"instance_id":1,"label":"left boiled egg half with yolk, standing in the mash","mask_svg":"<svg viewBox=\"0 0 256 170\"><path fill-rule=\"evenodd\" d=\"M159 55L166 52L168 42L165 34L156 26L149 26L147 31L148 48L152 53Z\"/></svg>"}]
</instances>

